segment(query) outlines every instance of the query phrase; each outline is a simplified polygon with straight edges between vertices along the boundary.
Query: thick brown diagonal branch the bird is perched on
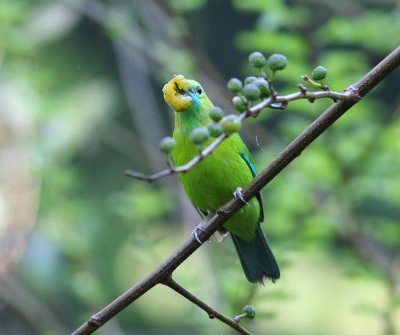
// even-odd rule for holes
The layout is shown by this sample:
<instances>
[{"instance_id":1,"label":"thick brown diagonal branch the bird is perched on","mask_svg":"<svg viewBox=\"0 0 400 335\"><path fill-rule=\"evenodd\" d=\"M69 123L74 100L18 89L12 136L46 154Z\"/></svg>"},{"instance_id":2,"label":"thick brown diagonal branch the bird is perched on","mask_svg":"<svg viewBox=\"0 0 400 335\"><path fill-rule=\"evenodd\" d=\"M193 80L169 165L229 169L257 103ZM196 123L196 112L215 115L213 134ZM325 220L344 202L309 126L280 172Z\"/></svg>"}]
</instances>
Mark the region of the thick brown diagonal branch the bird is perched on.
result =
<instances>
[{"instance_id":1,"label":"thick brown diagonal branch the bird is perched on","mask_svg":"<svg viewBox=\"0 0 400 335\"><path fill-rule=\"evenodd\" d=\"M246 201L255 196L265 187L274 177L276 177L290 162L298 157L302 151L318 138L327 128L337 119L346 113L354 104L361 100L372 88L378 85L383 78L389 75L400 65L400 47L390 53L377 66L369 71L361 80L352 85L349 90L352 92L352 100L339 101L329 107L321 114L302 134L291 142L251 183L243 190ZM198 237L205 241L217 231L222 225L244 206L240 199L233 198L225 205L221 206L217 212L206 218L206 226L200 231ZM194 240L186 241L175 253L164 261L156 270L149 274L145 279L131 287L128 291L120 295L98 313L94 314L73 335L91 334L96 329L105 324L109 319L129 306L137 298L149 291L152 287L165 282L173 271L182 264L200 244Z\"/></svg>"}]
</instances>

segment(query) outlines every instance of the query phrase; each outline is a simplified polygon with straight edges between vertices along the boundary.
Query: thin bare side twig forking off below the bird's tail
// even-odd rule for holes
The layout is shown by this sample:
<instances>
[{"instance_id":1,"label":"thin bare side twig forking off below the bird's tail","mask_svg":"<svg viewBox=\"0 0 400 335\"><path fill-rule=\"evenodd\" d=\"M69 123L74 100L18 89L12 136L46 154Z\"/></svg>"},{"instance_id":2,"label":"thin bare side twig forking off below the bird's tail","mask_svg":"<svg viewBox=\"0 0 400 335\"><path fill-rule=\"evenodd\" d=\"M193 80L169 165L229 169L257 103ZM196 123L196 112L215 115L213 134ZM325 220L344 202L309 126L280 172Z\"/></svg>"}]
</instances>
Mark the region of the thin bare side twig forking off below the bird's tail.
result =
<instances>
[{"instance_id":1,"label":"thin bare side twig forking off below the bird's tail","mask_svg":"<svg viewBox=\"0 0 400 335\"><path fill-rule=\"evenodd\" d=\"M252 335L247 329L243 328L238 321L235 321L234 319L231 319L221 313L219 313L217 310L212 308L211 306L207 305L204 301L196 297L194 294L186 290L183 286L181 286L179 283L177 283L172 277L168 277L164 282L164 285L168 286L169 288L173 289L175 292L179 293L181 296L185 297L189 301L191 301L193 304L196 306L200 307L203 311L205 311L210 319L218 319L222 321L223 323L227 324L228 326L232 327L233 329L236 329L238 333L244 334L244 335Z\"/></svg>"}]
</instances>

